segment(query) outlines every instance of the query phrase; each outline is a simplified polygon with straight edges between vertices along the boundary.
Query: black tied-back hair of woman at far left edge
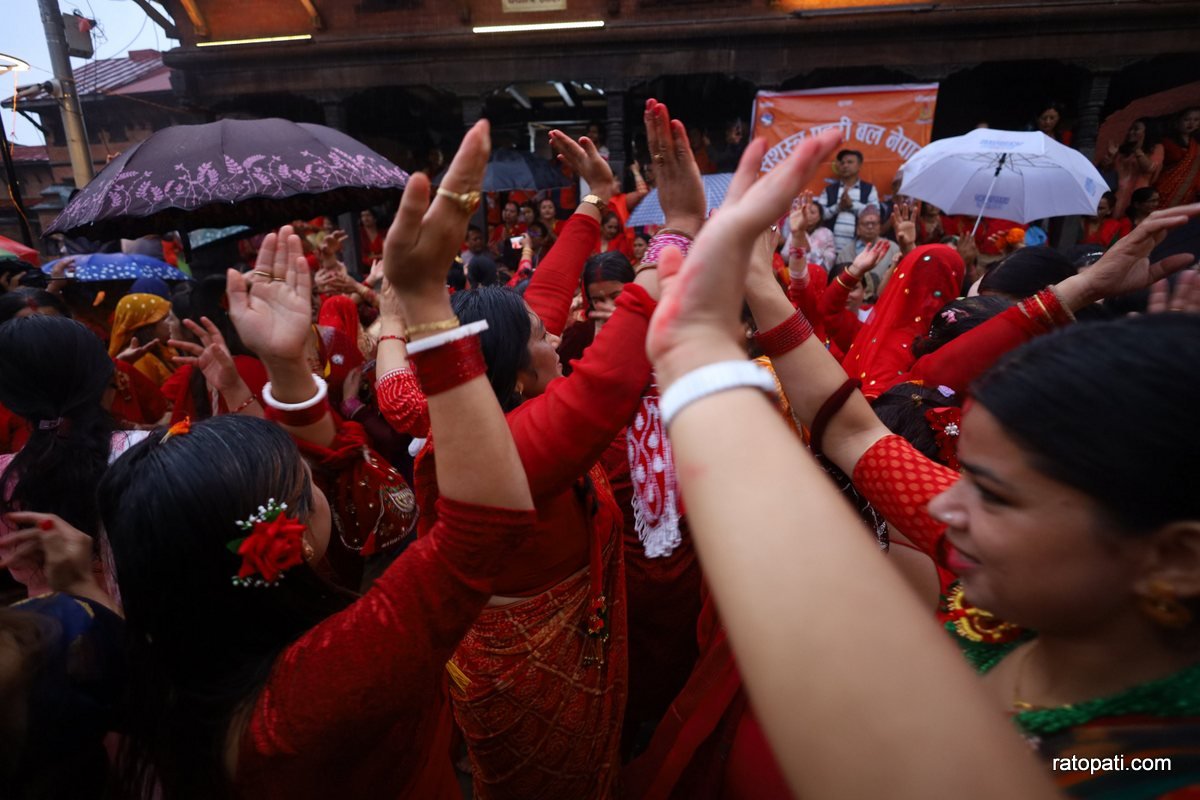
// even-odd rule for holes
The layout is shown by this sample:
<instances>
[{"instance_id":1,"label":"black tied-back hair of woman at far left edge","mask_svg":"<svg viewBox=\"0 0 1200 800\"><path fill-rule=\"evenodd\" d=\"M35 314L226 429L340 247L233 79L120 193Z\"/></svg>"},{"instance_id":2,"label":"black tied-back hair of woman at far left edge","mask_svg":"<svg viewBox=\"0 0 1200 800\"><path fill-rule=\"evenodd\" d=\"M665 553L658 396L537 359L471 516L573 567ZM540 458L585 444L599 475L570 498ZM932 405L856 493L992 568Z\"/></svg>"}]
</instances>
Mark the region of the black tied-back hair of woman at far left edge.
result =
<instances>
[{"instance_id":1,"label":"black tied-back hair of woman at far left edge","mask_svg":"<svg viewBox=\"0 0 1200 800\"><path fill-rule=\"evenodd\" d=\"M100 530L96 483L108 465L113 419L101 405L113 361L95 333L65 317L0 325L0 404L24 417L29 441L0 475L0 511L56 513Z\"/></svg>"}]
</instances>

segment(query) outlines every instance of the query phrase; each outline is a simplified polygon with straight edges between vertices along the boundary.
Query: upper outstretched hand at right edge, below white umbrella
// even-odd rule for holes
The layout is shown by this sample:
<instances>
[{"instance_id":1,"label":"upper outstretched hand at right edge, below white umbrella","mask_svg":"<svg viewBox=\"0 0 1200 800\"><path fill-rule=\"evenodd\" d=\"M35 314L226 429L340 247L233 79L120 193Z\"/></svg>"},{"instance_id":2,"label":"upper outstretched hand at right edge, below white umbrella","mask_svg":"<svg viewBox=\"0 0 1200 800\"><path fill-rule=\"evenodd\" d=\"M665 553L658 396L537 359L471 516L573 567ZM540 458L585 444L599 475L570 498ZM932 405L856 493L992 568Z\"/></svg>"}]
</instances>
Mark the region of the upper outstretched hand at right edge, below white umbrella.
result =
<instances>
[{"instance_id":1,"label":"upper outstretched hand at right edge, below white umbrella","mask_svg":"<svg viewBox=\"0 0 1200 800\"><path fill-rule=\"evenodd\" d=\"M1104 297L1145 289L1195 263L1194 255L1178 253L1151 264L1150 254L1169 230L1187 224L1196 215L1200 215L1200 203L1154 211L1110 247L1100 260L1057 284L1055 290L1060 299L1076 311Z\"/></svg>"}]
</instances>

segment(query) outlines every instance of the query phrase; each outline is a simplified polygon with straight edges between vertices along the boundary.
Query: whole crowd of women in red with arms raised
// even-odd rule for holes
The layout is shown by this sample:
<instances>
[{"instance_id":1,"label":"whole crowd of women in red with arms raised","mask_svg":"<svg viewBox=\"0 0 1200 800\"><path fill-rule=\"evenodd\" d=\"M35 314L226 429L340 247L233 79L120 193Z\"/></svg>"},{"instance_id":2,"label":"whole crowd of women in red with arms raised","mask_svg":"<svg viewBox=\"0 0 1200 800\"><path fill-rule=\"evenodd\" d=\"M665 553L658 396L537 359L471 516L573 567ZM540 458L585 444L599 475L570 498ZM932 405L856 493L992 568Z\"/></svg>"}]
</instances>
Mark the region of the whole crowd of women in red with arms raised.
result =
<instances>
[{"instance_id":1,"label":"whole crowd of women in red with arms raised","mask_svg":"<svg viewBox=\"0 0 1200 800\"><path fill-rule=\"evenodd\" d=\"M1200 204L829 270L836 131L706 219L644 122L635 263L556 131L590 193L448 289L482 121L364 282L0 296L0 795L1200 796Z\"/></svg>"}]
</instances>

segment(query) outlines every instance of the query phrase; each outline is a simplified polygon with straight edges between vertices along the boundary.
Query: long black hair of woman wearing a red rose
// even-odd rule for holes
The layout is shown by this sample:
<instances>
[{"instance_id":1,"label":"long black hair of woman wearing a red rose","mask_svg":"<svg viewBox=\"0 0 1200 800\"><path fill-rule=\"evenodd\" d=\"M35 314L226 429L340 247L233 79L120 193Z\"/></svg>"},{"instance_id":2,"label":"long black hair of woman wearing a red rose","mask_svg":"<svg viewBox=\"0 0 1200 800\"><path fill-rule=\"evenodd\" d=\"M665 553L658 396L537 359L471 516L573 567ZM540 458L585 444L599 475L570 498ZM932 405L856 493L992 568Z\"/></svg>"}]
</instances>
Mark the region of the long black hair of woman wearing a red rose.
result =
<instances>
[{"instance_id":1,"label":"long black hair of woman wearing a red rose","mask_svg":"<svg viewBox=\"0 0 1200 800\"><path fill-rule=\"evenodd\" d=\"M295 443L265 420L222 415L131 447L100 485L125 607L130 692L121 798L224 798L229 726L278 654L352 596L307 564L277 585L234 585L236 522L269 499L308 519L312 483Z\"/></svg>"}]
</instances>

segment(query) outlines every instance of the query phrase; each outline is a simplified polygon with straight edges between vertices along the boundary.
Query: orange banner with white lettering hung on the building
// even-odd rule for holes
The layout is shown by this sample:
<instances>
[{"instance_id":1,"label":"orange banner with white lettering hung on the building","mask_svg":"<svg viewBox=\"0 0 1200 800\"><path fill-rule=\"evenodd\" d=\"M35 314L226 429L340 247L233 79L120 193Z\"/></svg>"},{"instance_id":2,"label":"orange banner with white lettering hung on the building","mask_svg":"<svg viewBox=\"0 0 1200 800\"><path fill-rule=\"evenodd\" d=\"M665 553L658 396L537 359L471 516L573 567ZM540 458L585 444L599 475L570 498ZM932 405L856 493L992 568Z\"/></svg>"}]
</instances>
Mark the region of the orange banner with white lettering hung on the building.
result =
<instances>
[{"instance_id":1,"label":"orange banner with white lettering hung on the building","mask_svg":"<svg viewBox=\"0 0 1200 800\"><path fill-rule=\"evenodd\" d=\"M763 172L784 161L805 137L841 128L842 148L863 154L862 180L880 197L892 193L896 169L930 142L937 84L839 86L808 91L760 91L754 101L754 134L767 139ZM822 170L814 193L836 180Z\"/></svg>"}]
</instances>

